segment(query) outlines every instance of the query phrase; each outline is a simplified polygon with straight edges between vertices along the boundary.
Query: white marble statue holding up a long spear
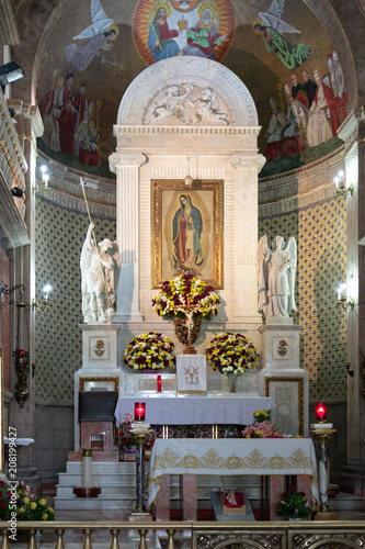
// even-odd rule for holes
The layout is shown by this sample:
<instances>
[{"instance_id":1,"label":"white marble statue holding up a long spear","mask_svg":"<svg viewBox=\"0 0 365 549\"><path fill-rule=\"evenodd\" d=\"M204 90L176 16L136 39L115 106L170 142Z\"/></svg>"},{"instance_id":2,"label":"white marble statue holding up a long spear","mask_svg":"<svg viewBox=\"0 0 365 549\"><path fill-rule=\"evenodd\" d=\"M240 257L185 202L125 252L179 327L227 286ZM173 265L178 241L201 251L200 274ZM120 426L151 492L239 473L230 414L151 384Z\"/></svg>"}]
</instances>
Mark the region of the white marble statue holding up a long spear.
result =
<instances>
[{"instance_id":1,"label":"white marble statue holding up a long spear","mask_svg":"<svg viewBox=\"0 0 365 549\"><path fill-rule=\"evenodd\" d=\"M87 324L110 323L115 313L119 253L117 243L109 238L95 244L93 228L90 223L81 251L82 314Z\"/></svg>"}]
</instances>

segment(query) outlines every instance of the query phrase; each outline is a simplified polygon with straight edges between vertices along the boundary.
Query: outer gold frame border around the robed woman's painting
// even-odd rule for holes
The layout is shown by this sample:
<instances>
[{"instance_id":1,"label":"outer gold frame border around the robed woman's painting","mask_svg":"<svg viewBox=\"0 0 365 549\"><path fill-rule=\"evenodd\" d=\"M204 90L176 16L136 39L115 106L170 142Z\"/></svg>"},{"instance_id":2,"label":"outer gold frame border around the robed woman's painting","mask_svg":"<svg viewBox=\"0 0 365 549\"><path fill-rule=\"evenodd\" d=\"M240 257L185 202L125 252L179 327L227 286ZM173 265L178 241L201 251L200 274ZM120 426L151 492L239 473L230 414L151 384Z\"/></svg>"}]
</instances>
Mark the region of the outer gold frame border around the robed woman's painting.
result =
<instances>
[{"instance_id":1,"label":"outer gold frame border around the robed woman's painting","mask_svg":"<svg viewBox=\"0 0 365 549\"><path fill-rule=\"evenodd\" d=\"M183 179L152 179L151 180L151 288L161 287L162 280L162 192L164 190L181 191L194 195L195 190L212 190L213 192L213 249L214 249L214 277L204 279L215 290L224 289L224 180L204 179L194 180L192 188L187 189Z\"/></svg>"}]
</instances>

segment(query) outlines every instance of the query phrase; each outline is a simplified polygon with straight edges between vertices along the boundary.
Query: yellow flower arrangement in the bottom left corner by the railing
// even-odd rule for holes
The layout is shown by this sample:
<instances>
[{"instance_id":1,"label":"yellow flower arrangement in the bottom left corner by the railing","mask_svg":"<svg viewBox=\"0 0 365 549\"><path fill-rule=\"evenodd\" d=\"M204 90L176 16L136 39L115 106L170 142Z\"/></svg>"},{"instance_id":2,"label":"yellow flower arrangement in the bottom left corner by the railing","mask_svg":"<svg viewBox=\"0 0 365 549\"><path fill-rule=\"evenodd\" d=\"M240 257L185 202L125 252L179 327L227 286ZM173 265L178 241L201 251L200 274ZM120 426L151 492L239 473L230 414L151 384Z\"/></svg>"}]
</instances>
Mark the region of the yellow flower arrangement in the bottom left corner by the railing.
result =
<instances>
[{"instance_id":1,"label":"yellow flower arrangement in the bottom left corner by the railing","mask_svg":"<svg viewBox=\"0 0 365 549\"><path fill-rule=\"evenodd\" d=\"M47 500L36 497L30 486L18 481L9 486L0 481L0 520L10 520L14 512L18 520L55 520L55 512L47 506Z\"/></svg>"}]
</instances>

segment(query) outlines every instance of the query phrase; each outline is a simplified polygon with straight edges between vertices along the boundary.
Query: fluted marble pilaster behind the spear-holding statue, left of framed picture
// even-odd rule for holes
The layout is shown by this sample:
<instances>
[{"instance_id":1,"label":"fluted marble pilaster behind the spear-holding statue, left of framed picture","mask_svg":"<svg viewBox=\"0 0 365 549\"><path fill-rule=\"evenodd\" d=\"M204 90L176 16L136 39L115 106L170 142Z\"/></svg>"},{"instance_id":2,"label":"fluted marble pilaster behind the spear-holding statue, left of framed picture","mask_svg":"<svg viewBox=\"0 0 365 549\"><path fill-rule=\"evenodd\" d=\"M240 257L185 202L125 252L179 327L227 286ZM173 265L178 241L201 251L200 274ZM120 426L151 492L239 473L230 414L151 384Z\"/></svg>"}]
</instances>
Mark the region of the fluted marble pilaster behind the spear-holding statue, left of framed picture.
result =
<instances>
[{"instance_id":1,"label":"fluted marble pilaster behind the spear-holding statue, left of framed picture","mask_svg":"<svg viewBox=\"0 0 365 549\"><path fill-rule=\"evenodd\" d=\"M121 274L115 322L140 322L139 309L139 168L146 161L141 154L110 156L110 168L116 173L116 239L119 246Z\"/></svg>"}]
</instances>

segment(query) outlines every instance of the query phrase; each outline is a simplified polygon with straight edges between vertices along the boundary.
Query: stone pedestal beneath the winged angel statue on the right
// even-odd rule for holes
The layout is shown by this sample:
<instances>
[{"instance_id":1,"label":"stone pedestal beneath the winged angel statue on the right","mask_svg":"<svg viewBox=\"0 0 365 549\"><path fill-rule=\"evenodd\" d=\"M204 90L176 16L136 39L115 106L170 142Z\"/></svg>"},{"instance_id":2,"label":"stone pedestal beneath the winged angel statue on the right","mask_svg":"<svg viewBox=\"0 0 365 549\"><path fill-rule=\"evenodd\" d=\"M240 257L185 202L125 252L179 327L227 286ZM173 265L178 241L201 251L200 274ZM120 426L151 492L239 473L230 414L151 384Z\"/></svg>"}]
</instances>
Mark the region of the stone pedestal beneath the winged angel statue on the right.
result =
<instances>
[{"instance_id":1,"label":"stone pedestal beneath the winged angel statue on the right","mask_svg":"<svg viewBox=\"0 0 365 549\"><path fill-rule=\"evenodd\" d=\"M281 433L308 436L309 377L299 367L301 330L301 326L278 322L259 328L264 366L260 394L275 402L273 421Z\"/></svg>"}]
</instances>

